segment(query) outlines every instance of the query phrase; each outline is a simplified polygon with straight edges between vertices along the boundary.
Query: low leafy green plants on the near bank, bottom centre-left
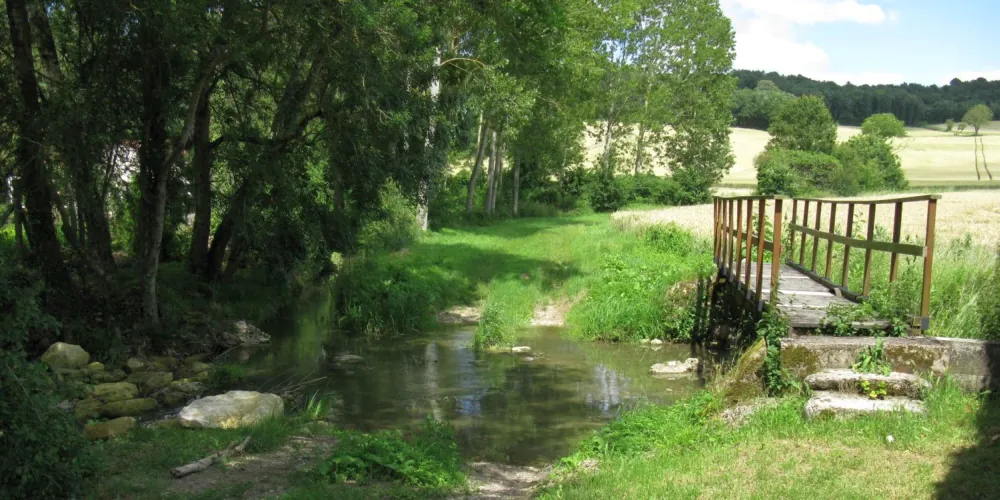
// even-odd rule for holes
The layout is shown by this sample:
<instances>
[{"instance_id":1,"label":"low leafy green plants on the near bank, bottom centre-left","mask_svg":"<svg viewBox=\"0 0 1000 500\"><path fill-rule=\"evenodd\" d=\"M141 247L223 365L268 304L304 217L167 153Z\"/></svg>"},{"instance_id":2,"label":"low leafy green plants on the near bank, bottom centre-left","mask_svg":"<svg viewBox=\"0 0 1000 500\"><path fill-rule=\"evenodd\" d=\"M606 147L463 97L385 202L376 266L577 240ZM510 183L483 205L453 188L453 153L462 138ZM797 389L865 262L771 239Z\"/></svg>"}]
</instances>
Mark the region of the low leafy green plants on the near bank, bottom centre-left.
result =
<instances>
[{"instance_id":1,"label":"low leafy green plants on the near bank, bottom centre-left","mask_svg":"<svg viewBox=\"0 0 1000 500\"><path fill-rule=\"evenodd\" d=\"M337 437L333 454L318 466L331 481L398 481L442 493L465 485L455 433L447 424L428 419L410 440L399 431L345 431Z\"/></svg>"}]
</instances>

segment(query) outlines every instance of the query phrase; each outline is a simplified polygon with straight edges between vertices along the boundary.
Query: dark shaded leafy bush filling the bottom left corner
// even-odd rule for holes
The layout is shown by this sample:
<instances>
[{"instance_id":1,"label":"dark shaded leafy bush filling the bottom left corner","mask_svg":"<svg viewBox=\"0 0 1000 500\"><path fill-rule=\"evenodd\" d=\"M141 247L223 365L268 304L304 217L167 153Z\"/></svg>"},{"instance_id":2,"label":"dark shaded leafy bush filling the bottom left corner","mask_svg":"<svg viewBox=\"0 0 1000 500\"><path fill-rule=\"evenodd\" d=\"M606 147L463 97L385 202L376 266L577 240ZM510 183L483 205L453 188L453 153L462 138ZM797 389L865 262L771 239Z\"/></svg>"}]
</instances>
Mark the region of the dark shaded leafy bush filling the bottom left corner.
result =
<instances>
[{"instance_id":1,"label":"dark shaded leafy bush filling the bottom left corner","mask_svg":"<svg viewBox=\"0 0 1000 500\"><path fill-rule=\"evenodd\" d=\"M0 498L73 498L97 462L40 363L0 350Z\"/></svg>"}]
</instances>

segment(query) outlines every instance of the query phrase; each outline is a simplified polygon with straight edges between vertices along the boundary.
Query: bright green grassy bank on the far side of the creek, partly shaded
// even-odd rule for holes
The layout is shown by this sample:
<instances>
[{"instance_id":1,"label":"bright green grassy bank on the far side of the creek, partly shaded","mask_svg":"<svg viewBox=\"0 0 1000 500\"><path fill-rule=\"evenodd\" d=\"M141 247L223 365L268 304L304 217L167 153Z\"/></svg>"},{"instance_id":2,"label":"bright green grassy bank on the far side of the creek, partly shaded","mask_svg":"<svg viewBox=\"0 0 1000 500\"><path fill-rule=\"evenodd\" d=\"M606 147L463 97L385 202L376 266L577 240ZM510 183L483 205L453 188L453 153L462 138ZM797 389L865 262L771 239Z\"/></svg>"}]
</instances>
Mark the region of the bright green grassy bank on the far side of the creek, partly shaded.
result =
<instances>
[{"instance_id":1,"label":"bright green grassy bank on the far side of the creek, partly shaded","mask_svg":"<svg viewBox=\"0 0 1000 500\"><path fill-rule=\"evenodd\" d=\"M443 229L408 249L357 259L338 279L348 331L430 328L437 311L479 305L479 338L509 345L535 306L575 302L568 322L587 340L686 338L709 243L676 226L631 230L607 215L500 221ZM671 292L678 283L679 287Z\"/></svg>"}]
</instances>

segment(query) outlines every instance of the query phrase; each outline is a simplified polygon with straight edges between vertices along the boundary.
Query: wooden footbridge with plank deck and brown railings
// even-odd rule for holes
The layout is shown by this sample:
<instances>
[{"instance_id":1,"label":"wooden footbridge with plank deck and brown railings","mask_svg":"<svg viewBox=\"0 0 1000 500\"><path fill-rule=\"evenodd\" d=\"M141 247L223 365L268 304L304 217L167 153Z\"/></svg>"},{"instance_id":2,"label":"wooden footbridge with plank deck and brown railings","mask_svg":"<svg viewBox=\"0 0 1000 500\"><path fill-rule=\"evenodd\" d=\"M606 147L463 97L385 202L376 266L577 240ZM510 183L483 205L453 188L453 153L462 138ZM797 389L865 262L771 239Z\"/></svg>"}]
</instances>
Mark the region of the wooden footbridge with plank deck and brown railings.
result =
<instances>
[{"instance_id":1,"label":"wooden footbridge with plank deck and brown railings","mask_svg":"<svg viewBox=\"0 0 1000 500\"><path fill-rule=\"evenodd\" d=\"M873 265L877 253L889 254L889 283L899 278L901 256L915 257L922 260L923 276L919 313L911 326L912 333L921 333L929 327L934 223L939 199L938 195L871 200L716 197L715 263L720 276L733 285L738 297L746 299L743 302L748 307L755 307L757 312L767 307L777 308L788 318L792 329L803 331L820 327L831 306L868 299L872 274L886 272L885 266ZM904 206L924 204L925 231L917 238L903 240ZM924 207L919 208L922 212ZM838 218L838 209L846 209L846 217ZM877 230L876 220L886 209L892 210L891 240L880 241L879 234L886 231ZM883 219L889 221L887 217ZM861 224L865 228L857 231L855 226ZM863 235L855 236L856 232ZM860 277L851 274L852 268L857 274L860 267L852 256L863 259ZM853 288L849 286L852 283ZM774 290L777 294L773 294ZM885 326L885 322L879 321L852 324L857 329Z\"/></svg>"}]
</instances>

